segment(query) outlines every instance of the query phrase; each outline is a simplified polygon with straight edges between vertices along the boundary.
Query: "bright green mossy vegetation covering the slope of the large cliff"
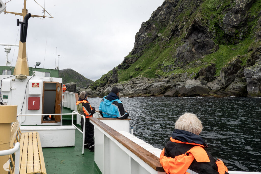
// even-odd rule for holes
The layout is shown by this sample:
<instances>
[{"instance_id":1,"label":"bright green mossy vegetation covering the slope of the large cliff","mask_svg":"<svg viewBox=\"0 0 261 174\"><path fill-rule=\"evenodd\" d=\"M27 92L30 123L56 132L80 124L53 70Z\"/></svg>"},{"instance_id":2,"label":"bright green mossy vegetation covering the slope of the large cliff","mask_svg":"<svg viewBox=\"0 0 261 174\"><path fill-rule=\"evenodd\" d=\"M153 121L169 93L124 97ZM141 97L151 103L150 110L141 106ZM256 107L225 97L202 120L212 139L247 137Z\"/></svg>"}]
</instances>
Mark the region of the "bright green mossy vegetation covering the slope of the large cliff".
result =
<instances>
[{"instance_id":1,"label":"bright green mossy vegetation covering the slope of the large cliff","mask_svg":"<svg viewBox=\"0 0 261 174\"><path fill-rule=\"evenodd\" d=\"M246 8L246 19L238 27L233 28L233 35L226 34L225 27L222 26L222 20L228 9L233 8L235 5L233 1L205 0L199 2L201 2L200 5L193 9L194 1L179 1L174 10L182 6L184 8L182 13L178 14L174 21L165 26L158 19L150 18L147 22L156 26L157 35L160 36L151 43L143 45L144 49L140 55L137 55L139 58L128 69L116 67L118 81L127 81L139 76L148 78L173 77L182 73L186 73L193 78L201 68L207 67L210 63L216 64L216 76L219 76L221 68L234 57L239 57L242 60L241 65L246 65L246 61L254 48L261 45L260 40L256 40L255 37L255 34L260 30L258 20L261 16L261 0L248 2L251 7ZM184 38L189 34L190 26L195 20L200 20L201 27L207 28L206 35L210 35L210 38L215 45L218 45L219 49L191 62L180 62L175 57L176 50L185 43ZM178 36L171 35L175 25L181 28ZM240 28L240 26L244 26L244 28ZM147 37L152 36L152 32L145 34ZM133 52L126 56L125 59L131 57L135 57ZM198 60L203 63L195 65ZM106 84L104 77L108 79L107 76L110 76L110 74L111 72L101 77L93 83L92 87L104 86Z\"/></svg>"}]
</instances>

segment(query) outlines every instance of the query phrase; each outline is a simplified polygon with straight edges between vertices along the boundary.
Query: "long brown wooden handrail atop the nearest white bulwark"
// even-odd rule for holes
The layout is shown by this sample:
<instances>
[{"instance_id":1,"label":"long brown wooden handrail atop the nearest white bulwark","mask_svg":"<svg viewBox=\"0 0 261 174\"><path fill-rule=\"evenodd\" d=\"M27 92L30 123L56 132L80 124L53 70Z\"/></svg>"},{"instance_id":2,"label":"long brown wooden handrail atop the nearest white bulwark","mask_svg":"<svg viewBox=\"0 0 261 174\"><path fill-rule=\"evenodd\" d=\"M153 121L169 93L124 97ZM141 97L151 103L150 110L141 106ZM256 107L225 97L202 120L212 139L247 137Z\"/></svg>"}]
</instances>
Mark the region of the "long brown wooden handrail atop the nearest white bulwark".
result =
<instances>
[{"instance_id":1,"label":"long brown wooden handrail atop the nearest white bulwark","mask_svg":"<svg viewBox=\"0 0 261 174\"><path fill-rule=\"evenodd\" d=\"M162 165L159 163L158 157L156 157L155 155L153 155L143 147L139 146L135 142L131 141L124 135L118 133L116 130L112 129L108 125L104 124L102 121L99 120L101 118L97 119L91 117L89 119L93 123L95 123L98 127L100 127L102 130L104 130L106 133L108 133L110 136L112 136L115 140L121 143L124 147L129 149L135 155L137 155L137 157L139 157L141 160L143 160L145 163L151 166L154 170L159 172L164 172Z\"/></svg>"}]
</instances>

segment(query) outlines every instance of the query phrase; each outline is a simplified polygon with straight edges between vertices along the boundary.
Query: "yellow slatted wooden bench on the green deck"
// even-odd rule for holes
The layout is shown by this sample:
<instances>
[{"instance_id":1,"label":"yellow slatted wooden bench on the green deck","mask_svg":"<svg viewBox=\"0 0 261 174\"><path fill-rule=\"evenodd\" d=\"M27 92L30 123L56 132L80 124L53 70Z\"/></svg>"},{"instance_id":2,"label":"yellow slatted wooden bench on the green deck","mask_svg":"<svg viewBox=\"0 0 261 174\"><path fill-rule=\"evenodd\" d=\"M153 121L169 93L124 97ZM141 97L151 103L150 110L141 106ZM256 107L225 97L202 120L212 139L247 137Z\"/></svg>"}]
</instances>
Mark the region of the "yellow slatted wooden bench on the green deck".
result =
<instances>
[{"instance_id":1,"label":"yellow slatted wooden bench on the green deck","mask_svg":"<svg viewBox=\"0 0 261 174\"><path fill-rule=\"evenodd\" d=\"M40 143L40 136L38 132L21 133L19 128L19 123L18 121L16 121L13 123L11 128L11 140L13 141L10 142L20 142L20 171L19 171L20 174L26 174L26 173L46 174L44 156L43 156L43 151ZM10 143L10 146L11 145L12 143ZM11 158L12 157L10 155L10 159ZM12 164L13 166L15 165L13 162Z\"/></svg>"}]
</instances>

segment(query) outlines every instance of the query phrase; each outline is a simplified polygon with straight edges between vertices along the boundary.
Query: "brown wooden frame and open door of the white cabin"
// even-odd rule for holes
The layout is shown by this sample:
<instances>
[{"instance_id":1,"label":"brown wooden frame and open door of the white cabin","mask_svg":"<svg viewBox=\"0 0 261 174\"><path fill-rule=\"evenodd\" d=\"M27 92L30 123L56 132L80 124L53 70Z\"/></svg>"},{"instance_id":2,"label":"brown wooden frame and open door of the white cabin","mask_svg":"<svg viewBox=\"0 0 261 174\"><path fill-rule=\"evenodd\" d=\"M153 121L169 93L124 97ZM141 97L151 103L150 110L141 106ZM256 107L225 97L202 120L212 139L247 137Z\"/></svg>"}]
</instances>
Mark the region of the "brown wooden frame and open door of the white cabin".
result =
<instances>
[{"instance_id":1,"label":"brown wooden frame and open door of the white cabin","mask_svg":"<svg viewBox=\"0 0 261 174\"><path fill-rule=\"evenodd\" d=\"M43 96L42 96L42 114L44 114L44 85L45 85L45 83L56 83L56 89L53 89L53 90L55 90L56 91L56 97L55 97L55 113L57 112L57 113L62 113L62 107L61 107L61 105L62 105L62 89L61 89L61 87L62 87L62 83L59 83L59 82L48 82L48 81L43 81ZM58 101L60 100L60 112L58 112L58 111L56 111L56 103L57 103L57 85L59 86L59 84L60 84L60 90L59 90L59 92L58 92L58 95L60 95L60 98L58 98ZM61 94L60 94L61 93ZM57 105L58 105L58 103L57 103ZM58 105L59 106L59 105ZM54 119L55 120L52 120L52 121L43 121L43 118L44 118L44 116L42 116L42 120L41 120L41 123L57 123L57 122L60 122L61 121L61 115L58 115L57 116L57 118L56 118L56 116L54 117Z\"/></svg>"}]
</instances>

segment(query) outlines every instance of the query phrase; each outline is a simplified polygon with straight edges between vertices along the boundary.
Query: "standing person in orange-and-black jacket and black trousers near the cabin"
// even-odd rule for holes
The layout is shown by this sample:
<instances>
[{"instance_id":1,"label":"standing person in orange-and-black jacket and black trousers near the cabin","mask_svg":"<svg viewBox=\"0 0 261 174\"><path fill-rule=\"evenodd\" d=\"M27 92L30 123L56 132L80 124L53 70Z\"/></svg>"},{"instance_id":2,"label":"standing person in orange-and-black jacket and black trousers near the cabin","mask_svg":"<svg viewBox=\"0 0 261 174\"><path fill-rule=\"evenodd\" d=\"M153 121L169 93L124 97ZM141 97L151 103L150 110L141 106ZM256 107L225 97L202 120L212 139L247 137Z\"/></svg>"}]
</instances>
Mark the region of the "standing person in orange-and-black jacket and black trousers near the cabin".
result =
<instances>
[{"instance_id":1,"label":"standing person in orange-and-black jacket and black trousers near the cabin","mask_svg":"<svg viewBox=\"0 0 261 174\"><path fill-rule=\"evenodd\" d=\"M79 95L79 100L76 102L77 111L85 116L85 140L84 148L89 149L89 151L94 152L94 125L90 122L90 117L95 113L95 108L90 105L87 100L88 95L86 91L82 91ZM81 129L83 130L84 121L81 118Z\"/></svg>"}]
</instances>

